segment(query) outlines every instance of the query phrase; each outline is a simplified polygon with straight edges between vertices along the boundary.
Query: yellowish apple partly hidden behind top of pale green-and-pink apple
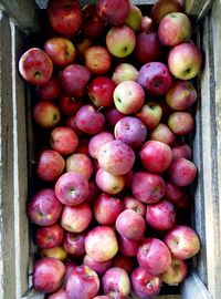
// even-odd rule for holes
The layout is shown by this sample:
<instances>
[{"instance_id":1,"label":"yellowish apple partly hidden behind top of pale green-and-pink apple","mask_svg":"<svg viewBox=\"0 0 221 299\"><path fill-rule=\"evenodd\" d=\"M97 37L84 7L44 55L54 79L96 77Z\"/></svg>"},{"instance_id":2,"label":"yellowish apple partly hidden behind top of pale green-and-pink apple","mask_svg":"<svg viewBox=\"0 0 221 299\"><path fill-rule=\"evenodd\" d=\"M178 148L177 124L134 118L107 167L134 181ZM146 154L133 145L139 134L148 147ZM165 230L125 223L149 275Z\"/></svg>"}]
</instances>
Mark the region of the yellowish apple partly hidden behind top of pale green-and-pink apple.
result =
<instances>
[{"instance_id":1,"label":"yellowish apple partly hidden behind top of pale green-and-pink apple","mask_svg":"<svg viewBox=\"0 0 221 299\"><path fill-rule=\"evenodd\" d=\"M130 63L120 63L115 69L112 80L118 85L124 81L137 81L138 71Z\"/></svg>"}]
</instances>

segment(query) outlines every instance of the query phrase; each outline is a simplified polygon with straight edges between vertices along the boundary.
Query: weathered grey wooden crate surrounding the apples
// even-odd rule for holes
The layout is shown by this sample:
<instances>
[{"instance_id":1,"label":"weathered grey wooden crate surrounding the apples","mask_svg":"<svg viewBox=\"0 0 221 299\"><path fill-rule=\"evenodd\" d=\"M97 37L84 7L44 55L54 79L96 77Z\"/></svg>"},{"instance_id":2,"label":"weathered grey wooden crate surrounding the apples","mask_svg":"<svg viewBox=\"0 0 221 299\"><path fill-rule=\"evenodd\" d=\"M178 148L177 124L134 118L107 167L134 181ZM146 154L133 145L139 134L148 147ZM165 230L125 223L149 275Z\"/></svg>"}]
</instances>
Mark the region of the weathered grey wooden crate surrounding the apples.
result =
<instances>
[{"instance_id":1,"label":"weathered grey wooden crate surrounding the apples","mask_svg":"<svg viewBox=\"0 0 221 299\"><path fill-rule=\"evenodd\" d=\"M45 6L44 0L38 0ZM84 1L83 1L84 2ZM134 1L152 4L155 1ZM187 0L186 11L196 20L204 64L198 78L193 161L199 175L192 203L192 225L201 251L181 296L161 299L221 298L221 1ZM25 292L31 286L32 237L25 204L33 147L28 120L29 90L18 73L18 59L27 34L38 31L36 4L30 0L0 0L0 298L43 298ZM27 151L29 148L29 151ZM24 297L22 297L25 293Z\"/></svg>"}]
</instances>

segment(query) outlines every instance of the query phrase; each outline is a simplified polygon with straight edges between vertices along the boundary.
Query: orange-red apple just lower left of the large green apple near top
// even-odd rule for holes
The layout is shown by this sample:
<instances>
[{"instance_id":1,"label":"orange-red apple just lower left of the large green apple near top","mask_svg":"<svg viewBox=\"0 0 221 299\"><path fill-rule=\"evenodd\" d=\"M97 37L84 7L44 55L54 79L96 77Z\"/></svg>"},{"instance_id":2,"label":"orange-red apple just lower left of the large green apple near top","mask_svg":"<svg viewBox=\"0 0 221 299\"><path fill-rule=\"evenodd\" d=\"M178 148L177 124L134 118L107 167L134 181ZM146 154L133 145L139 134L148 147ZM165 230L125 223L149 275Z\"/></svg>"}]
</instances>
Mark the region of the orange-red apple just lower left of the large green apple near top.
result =
<instances>
[{"instance_id":1,"label":"orange-red apple just lower left of the large green apple near top","mask_svg":"<svg viewBox=\"0 0 221 299\"><path fill-rule=\"evenodd\" d=\"M84 52L84 64L94 75L104 75L108 73L112 66L112 55L106 48L93 45Z\"/></svg>"}]
</instances>

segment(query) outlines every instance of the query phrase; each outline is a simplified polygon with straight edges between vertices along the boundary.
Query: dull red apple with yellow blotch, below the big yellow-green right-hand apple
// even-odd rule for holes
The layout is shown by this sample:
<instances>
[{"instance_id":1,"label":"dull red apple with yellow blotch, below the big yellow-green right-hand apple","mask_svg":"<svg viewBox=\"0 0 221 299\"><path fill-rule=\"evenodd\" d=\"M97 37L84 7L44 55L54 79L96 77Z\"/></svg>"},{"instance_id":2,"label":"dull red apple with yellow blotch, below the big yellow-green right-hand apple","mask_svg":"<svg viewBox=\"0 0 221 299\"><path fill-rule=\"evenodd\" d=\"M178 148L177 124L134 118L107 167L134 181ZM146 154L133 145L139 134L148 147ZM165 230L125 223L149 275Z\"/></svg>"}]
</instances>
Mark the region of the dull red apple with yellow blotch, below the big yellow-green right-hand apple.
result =
<instances>
[{"instance_id":1,"label":"dull red apple with yellow blotch, below the big yellow-green right-hand apple","mask_svg":"<svg viewBox=\"0 0 221 299\"><path fill-rule=\"evenodd\" d=\"M176 80L166 93L167 104L176 111L190 107L197 101L197 91L189 81Z\"/></svg>"}]
</instances>

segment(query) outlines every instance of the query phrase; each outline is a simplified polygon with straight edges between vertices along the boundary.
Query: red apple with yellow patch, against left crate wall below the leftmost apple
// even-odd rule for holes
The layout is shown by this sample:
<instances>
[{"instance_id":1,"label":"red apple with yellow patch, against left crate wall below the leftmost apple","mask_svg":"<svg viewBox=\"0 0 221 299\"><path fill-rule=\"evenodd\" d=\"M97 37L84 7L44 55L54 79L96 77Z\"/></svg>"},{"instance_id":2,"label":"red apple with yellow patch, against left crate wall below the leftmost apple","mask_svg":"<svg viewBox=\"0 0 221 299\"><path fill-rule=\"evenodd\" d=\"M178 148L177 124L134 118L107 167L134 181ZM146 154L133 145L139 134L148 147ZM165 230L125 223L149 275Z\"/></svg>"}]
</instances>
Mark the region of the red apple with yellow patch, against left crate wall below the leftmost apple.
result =
<instances>
[{"instance_id":1,"label":"red apple with yellow patch, against left crate wall below the leftmost apple","mask_svg":"<svg viewBox=\"0 0 221 299\"><path fill-rule=\"evenodd\" d=\"M40 127L51 128L59 124L60 118L59 107L51 102L41 101L33 109L33 120Z\"/></svg>"}]
</instances>

